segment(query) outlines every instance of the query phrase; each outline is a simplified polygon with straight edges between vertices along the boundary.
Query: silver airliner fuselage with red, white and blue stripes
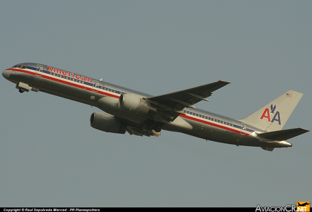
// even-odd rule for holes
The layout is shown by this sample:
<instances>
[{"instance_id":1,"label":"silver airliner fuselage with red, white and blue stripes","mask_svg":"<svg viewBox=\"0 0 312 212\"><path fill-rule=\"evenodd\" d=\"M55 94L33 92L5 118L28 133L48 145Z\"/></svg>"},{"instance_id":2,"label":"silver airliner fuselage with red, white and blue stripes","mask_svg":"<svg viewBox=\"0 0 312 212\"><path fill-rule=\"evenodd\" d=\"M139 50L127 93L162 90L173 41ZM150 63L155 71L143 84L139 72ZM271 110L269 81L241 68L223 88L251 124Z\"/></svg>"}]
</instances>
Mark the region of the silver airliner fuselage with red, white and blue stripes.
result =
<instances>
[{"instance_id":1,"label":"silver airliner fuselage with red, white and blue stripes","mask_svg":"<svg viewBox=\"0 0 312 212\"><path fill-rule=\"evenodd\" d=\"M39 90L89 104L115 117L131 122L142 123L150 118L147 115L130 113L119 108L118 101L123 93L134 94L142 98L151 97L152 95L43 64L21 63L18 65L24 67L8 68L2 73L7 80L17 85L24 83L34 88L35 91ZM105 97L104 100L99 101L103 97ZM257 136L257 133L264 132L263 130L247 126L246 123L242 123L237 119L227 118L197 108L184 108L183 112L185 114L180 114L173 122L165 123L162 129L234 145L292 146L287 141L264 140Z\"/></svg>"}]
</instances>

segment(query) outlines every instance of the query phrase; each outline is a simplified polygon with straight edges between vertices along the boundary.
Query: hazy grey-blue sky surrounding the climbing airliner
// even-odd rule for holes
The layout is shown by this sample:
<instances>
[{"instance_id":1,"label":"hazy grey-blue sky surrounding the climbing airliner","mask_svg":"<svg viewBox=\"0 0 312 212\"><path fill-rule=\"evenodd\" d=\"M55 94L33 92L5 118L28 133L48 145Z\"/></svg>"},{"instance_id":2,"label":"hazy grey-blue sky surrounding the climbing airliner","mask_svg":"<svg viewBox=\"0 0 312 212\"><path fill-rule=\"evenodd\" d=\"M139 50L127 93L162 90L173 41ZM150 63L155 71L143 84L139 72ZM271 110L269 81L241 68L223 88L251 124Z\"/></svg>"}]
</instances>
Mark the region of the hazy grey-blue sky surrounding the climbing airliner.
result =
<instances>
[{"instance_id":1,"label":"hazy grey-blue sky surrounding the climbing airliner","mask_svg":"<svg viewBox=\"0 0 312 212\"><path fill-rule=\"evenodd\" d=\"M1 71L36 62L151 95L218 80L195 106L244 118L305 95L283 129L312 129L311 1L0 1ZM0 207L256 207L312 201L311 133L273 152L89 126L98 108L0 79Z\"/></svg>"}]
</instances>

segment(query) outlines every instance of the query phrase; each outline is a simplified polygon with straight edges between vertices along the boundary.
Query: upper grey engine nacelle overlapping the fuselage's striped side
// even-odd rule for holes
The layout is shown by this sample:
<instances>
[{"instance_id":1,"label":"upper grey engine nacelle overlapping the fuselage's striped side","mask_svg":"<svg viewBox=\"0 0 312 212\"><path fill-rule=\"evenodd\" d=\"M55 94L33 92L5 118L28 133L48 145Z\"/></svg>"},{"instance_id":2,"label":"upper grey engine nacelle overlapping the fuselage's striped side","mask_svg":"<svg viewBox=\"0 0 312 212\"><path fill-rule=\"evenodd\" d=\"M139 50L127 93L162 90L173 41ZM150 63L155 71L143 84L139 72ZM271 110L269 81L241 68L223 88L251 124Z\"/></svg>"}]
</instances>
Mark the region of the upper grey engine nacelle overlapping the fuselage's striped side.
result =
<instances>
[{"instance_id":1,"label":"upper grey engine nacelle overlapping the fuselage's striped side","mask_svg":"<svg viewBox=\"0 0 312 212\"><path fill-rule=\"evenodd\" d=\"M127 110L132 113L149 114L156 113L157 108L155 105L140 98L139 96L131 94L121 94L118 101L119 108Z\"/></svg>"}]
</instances>

